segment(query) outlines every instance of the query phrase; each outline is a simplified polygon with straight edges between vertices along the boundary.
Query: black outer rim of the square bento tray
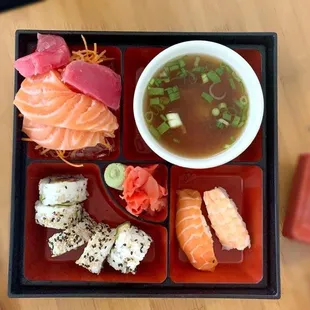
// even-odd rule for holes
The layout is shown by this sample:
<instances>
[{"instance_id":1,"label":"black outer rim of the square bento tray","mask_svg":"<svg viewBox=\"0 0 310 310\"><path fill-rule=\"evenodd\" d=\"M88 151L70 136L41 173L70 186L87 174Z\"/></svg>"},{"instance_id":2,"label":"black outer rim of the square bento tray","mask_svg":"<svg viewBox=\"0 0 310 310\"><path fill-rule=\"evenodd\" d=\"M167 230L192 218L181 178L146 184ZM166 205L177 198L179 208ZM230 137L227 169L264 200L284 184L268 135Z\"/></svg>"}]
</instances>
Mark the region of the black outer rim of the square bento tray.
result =
<instances>
[{"instance_id":1,"label":"black outer rim of the square bento tray","mask_svg":"<svg viewBox=\"0 0 310 310\"><path fill-rule=\"evenodd\" d=\"M266 197L271 197L267 208L264 208L264 244L268 245L268 251L264 249L269 272L266 283L258 284L207 284L192 287L186 284L174 285L174 287L162 286L161 284L141 284L132 287L124 287L122 283L100 286L100 283L74 283L74 282L41 282L28 281L23 276L23 242L20 236L24 236L23 225L18 221L24 218L23 193L19 184L24 184L26 175L26 161L23 154L23 146L17 143L21 133L18 128L17 110L14 109L14 139L12 161L12 206L11 206L11 230L10 230L10 257L9 257L9 297L188 297L188 298L280 298L280 264L279 264L279 219L278 219L278 141L277 141L277 34L276 33L183 33L183 32L101 32L101 31L40 31L40 30L17 30L15 56L20 52L19 42L23 35L36 35L41 33L57 33L67 36L80 36L81 33L91 35L104 35L107 45L116 45L124 50L130 46L167 46L185 40L212 40L225 45L237 45L245 47L249 45L263 45L266 48L266 104L272 106L272 116L265 113L265 128L263 138L266 139L266 148L273 150L263 157L264 162L242 162L265 166L267 174L264 174L264 182L269 181L270 186L264 190L264 204ZM140 44L143 41L150 43ZM223 42L224 41L224 42ZM68 40L70 43L70 40ZM118 44L122 42L124 46ZM157 43L160 42L160 43ZM123 68L122 68L123 70ZM15 91L21 77L15 72ZM263 143L265 145L265 143ZM265 150L263 150L265 153ZM35 160L33 161L35 162ZM50 162L50 161L49 161ZM238 162L230 163L238 165ZM18 192L17 192L18 191ZM22 194L20 193L22 192ZM266 210L267 209L267 210ZM267 212L265 212L267 211ZM267 221L268 218L268 221ZM268 253L266 253L268 252ZM264 264L265 271L265 264ZM265 272L264 272L265 275ZM265 277L264 277L265 278ZM60 286L61 285L61 286ZM121 290L120 290L121 288ZM74 293L73 293L74 292Z\"/></svg>"}]
</instances>

